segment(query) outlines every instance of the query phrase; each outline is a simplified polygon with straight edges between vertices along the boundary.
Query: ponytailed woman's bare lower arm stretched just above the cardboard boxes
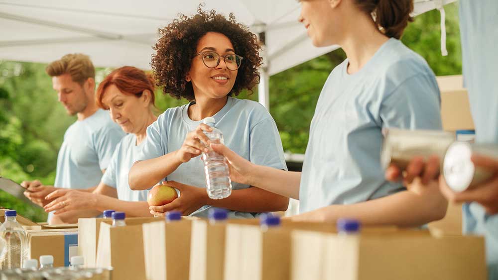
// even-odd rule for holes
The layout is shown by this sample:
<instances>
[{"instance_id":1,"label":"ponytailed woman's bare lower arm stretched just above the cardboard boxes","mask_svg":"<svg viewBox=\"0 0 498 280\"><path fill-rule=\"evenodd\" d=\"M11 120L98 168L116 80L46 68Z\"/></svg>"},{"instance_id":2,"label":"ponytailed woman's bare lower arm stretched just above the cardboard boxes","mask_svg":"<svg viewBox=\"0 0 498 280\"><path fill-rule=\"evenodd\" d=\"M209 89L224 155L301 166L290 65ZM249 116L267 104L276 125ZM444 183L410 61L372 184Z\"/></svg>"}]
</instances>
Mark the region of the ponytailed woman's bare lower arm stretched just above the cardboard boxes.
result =
<instances>
[{"instance_id":1,"label":"ponytailed woman's bare lower arm stretched just above the cardboard boxes","mask_svg":"<svg viewBox=\"0 0 498 280\"><path fill-rule=\"evenodd\" d=\"M405 191L355 204L330 205L292 219L336 222L339 218L348 217L358 219L365 225L412 227L442 219L447 206L437 181L424 186L420 179L415 179Z\"/></svg>"}]
</instances>

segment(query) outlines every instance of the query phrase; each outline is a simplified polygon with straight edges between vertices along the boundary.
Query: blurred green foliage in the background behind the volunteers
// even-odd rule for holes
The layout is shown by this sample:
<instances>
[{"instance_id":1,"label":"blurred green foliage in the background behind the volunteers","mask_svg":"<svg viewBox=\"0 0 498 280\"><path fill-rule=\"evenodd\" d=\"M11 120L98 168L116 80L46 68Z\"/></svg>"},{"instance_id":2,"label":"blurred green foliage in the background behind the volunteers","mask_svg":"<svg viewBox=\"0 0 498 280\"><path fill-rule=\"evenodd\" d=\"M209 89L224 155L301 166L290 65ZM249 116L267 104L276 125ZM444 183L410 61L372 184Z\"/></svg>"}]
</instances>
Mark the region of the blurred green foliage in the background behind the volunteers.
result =
<instances>
[{"instance_id":1,"label":"blurred green foliage in the background behind the volunteers","mask_svg":"<svg viewBox=\"0 0 498 280\"><path fill-rule=\"evenodd\" d=\"M445 9L449 56L441 56L440 14L436 10L417 16L402 41L423 56L436 75L461 74L458 5L449 4ZM286 152L305 152L322 86L345 57L342 50L336 50L270 78L270 113ZM0 176L19 183L39 179L43 184L53 184L64 132L76 120L57 102L44 69L44 64L0 61ZM96 82L111 71L97 69ZM253 94L241 93L239 98L257 100L257 89ZM158 113L186 102L156 92ZM26 205L2 191L0 206L14 208L35 221L46 220L41 208Z\"/></svg>"}]
</instances>

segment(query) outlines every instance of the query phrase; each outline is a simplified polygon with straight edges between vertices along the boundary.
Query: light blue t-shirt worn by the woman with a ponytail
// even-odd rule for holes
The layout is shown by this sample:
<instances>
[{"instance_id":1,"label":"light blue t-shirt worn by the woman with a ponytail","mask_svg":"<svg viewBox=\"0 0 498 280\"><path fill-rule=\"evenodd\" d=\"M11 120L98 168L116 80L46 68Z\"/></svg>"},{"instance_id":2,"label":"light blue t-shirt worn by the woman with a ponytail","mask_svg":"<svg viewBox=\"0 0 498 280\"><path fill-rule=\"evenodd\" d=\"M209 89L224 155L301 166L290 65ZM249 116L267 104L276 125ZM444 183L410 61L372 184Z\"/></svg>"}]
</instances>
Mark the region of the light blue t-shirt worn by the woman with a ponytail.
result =
<instances>
[{"instance_id":1,"label":"light blue t-shirt worn by the woman with a ponytail","mask_svg":"<svg viewBox=\"0 0 498 280\"><path fill-rule=\"evenodd\" d=\"M384 179L381 129L441 129L440 94L425 60L389 39L357 73L348 59L330 74L311 121L300 212L352 204L405 188Z\"/></svg>"}]
</instances>

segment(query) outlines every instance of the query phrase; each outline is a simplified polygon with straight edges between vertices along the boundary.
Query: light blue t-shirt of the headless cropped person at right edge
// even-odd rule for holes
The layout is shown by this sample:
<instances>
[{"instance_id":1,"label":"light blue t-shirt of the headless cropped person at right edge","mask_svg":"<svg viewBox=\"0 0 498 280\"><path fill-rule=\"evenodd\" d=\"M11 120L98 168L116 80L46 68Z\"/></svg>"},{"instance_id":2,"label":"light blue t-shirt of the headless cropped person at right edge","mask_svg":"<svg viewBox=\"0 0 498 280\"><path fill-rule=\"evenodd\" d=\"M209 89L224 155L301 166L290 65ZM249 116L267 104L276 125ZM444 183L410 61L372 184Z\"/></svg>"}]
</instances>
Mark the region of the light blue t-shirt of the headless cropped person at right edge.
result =
<instances>
[{"instance_id":1,"label":"light blue t-shirt of the headless cropped person at right edge","mask_svg":"<svg viewBox=\"0 0 498 280\"><path fill-rule=\"evenodd\" d=\"M476 142L498 143L498 1L460 0L460 35ZM489 279L498 280L498 215L478 203L464 204L463 213L464 232L485 236Z\"/></svg>"}]
</instances>

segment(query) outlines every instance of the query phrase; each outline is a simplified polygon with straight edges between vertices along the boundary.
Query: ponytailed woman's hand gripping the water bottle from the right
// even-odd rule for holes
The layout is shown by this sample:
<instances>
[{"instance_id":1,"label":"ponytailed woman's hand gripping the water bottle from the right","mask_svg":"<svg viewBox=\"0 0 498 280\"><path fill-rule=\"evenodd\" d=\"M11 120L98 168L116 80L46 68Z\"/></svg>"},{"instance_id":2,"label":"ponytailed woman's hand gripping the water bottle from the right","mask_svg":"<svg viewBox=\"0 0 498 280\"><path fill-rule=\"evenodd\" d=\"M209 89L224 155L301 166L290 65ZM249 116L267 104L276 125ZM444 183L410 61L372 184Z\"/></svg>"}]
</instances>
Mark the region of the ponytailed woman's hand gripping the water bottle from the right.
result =
<instances>
[{"instance_id":1,"label":"ponytailed woman's hand gripping the water bottle from the right","mask_svg":"<svg viewBox=\"0 0 498 280\"><path fill-rule=\"evenodd\" d=\"M223 144L211 144L211 148L227 159L230 168L230 179L232 181L245 185L254 185L251 184L251 170L253 170L254 166L251 162Z\"/></svg>"}]
</instances>

